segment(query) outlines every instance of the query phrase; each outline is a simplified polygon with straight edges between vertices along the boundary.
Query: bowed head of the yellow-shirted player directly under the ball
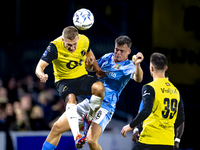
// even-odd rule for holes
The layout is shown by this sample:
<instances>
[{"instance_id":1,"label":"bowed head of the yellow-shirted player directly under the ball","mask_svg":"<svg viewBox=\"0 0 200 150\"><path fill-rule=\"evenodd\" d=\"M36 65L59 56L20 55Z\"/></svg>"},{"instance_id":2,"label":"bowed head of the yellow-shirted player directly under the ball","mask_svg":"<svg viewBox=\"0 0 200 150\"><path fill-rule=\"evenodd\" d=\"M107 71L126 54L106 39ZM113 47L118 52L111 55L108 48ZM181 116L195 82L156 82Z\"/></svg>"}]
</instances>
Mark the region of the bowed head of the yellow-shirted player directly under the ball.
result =
<instances>
[{"instance_id":1,"label":"bowed head of the yellow-shirted player directly under the ball","mask_svg":"<svg viewBox=\"0 0 200 150\"><path fill-rule=\"evenodd\" d=\"M63 29L62 40L65 48L73 53L78 45L78 30L74 26L68 26Z\"/></svg>"}]
</instances>

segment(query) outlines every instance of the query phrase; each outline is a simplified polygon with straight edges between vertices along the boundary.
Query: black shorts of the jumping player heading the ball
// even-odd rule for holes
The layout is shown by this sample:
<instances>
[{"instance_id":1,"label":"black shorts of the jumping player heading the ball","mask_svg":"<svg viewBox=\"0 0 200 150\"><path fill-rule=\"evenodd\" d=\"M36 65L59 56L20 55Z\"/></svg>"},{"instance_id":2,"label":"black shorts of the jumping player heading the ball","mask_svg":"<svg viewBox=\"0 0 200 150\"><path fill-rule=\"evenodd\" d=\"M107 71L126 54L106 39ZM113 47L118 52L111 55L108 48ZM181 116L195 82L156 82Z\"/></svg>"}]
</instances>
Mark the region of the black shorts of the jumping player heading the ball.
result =
<instances>
[{"instance_id":1,"label":"black shorts of the jumping player heading the ball","mask_svg":"<svg viewBox=\"0 0 200 150\"><path fill-rule=\"evenodd\" d=\"M75 79L64 79L55 83L59 96L65 100L68 94L92 95L91 87L99 80L95 76L84 75Z\"/></svg>"}]
</instances>

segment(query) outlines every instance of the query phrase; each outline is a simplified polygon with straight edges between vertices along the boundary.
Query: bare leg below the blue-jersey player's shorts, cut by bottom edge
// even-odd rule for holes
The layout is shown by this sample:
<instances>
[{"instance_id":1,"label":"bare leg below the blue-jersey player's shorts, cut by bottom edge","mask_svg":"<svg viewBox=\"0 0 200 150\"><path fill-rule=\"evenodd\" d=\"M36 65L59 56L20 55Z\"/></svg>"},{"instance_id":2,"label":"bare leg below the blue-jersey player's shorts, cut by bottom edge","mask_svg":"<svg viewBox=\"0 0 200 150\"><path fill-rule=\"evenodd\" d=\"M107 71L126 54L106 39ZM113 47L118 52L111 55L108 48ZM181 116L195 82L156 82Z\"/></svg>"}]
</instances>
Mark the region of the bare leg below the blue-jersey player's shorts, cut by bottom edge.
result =
<instances>
[{"instance_id":1,"label":"bare leg below the blue-jersey player's shorts, cut by bottom edge","mask_svg":"<svg viewBox=\"0 0 200 150\"><path fill-rule=\"evenodd\" d=\"M87 143L90 147L90 150L102 150L101 146L98 143L98 139L101 133L101 126L95 122L92 122L87 134Z\"/></svg>"}]
</instances>

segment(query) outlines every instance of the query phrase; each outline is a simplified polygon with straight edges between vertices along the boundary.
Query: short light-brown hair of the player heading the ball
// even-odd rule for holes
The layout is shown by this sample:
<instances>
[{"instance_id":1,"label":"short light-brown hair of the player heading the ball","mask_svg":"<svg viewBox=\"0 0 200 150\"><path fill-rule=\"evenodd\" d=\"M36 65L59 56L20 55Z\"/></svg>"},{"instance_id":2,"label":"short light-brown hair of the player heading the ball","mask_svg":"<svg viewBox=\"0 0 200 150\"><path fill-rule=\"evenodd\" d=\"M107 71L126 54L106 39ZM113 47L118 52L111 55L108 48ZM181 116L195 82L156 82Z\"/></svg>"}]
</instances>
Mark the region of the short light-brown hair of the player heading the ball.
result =
<instances>
[{"instance_id":1,"label":"short light-brown hair of the player heading the ball","mask_svg":"<svg viewBox=\"0 0 200 150\"><path fill-rule=\"evenodd\" d=\"M78 30L74 26L68 26L63 29L62 37L64 39L73 40L76 36L78 36Z\"/></svg>"}]
</instances>

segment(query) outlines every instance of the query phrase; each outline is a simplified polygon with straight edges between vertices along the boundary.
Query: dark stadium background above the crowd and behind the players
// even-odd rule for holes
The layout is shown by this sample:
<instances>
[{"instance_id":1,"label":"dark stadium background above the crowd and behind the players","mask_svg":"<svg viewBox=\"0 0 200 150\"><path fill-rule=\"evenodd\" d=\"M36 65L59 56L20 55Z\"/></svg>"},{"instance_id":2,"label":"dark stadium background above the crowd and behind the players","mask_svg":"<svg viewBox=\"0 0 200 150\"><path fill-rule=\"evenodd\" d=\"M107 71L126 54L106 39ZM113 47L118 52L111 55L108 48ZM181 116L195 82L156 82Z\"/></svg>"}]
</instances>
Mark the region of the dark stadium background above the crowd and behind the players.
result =
<instances>
[{"instance_id":1,"label":"dark stadium background above the crowd and behind the players","mask_svg":"<svg viewBox=\"0 0 200 150\"><path fill-rule=\"evenodd\" d=\"M91 48L100 58L114 49L119 35L128 35L132 53L144 54L142 83L130 81L120 96L115 118L135 116L141 100L142 86L151 81L149 57L164 53L169 60L167 73L184 100L186 126L180 147L199 149L198 123L200 90L200 1L199 0L11 0L1 2L0 9L0 78L3 83L14 77L32 76L48 43L73 25L73 13L90 9L95 17L91 29L80 31L89 37ZM47 87L54 87L52 66ZM199 118L199 117L198 117ZM198 120L198 119L197 119Z\"/></svg>"}]
</instances>

